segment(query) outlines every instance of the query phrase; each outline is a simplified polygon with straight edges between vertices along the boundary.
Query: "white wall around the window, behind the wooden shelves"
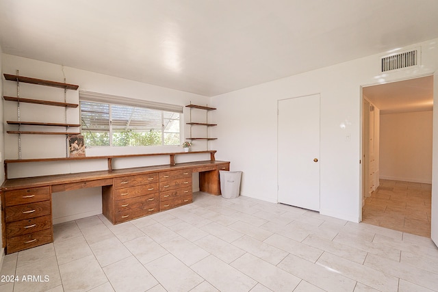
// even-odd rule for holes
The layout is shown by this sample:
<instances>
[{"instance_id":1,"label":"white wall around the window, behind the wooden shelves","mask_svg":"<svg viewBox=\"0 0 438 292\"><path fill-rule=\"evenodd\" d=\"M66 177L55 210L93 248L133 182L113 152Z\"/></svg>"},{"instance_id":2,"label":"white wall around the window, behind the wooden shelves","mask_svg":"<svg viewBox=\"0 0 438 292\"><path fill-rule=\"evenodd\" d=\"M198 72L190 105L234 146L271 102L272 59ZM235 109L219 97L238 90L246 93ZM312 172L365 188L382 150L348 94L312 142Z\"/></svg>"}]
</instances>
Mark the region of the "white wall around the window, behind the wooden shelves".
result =
<instances>
[{"instance_id":1,"label":"white wall around the window, behind the wooden shelves","mask_svg":"<svg viewBox=\"0 0 438 292\"><path fill-rule=\"evenodd\" d=\"M156 101L160 103L170 103L175 105L209 104L210 98L198 94L161 88L155 85L129 81L107 75L101 75L94 72L78 70L75 68L63 67L57 64L40 62L34 59L16 57L13 55L2 54L3 60L1 68L8 74L16 74L20 70L21 76L34 77L38 79L47 79L52 81L64 81L64 75L67 83L79 85L79 90L89 92L98 92L101 94L110 94L114 96L124 96L128 98L144 99L147 101ZM109 64L110 66L110 64ZM3 80L3 94L6 96L16 96L16 83L13 81ZM20 96L23 98L35 98L53 101L64 101L64 90L49 88L47 86L20 84ZM78 103L79 91L68 90L67 102ZM184 107L184 119L189 120L190 109ZM3 110L1 111L3 113ZM2 120L16 120L17 111L16 103L4 102L4 118ZM192 120L203 121L205 111L192 111ZM44 105L33 105L21 103L21 120L22 121L40 121L40 122L64 122L64 108L48 107ZM68 122L79 122L79 108L68 109ZM210 119L209 122L214 122ZM5 125L8 129L16 129L16 126ZM189 137L190 128L183 127L185 137ZM36 127L34 131L38 131ZM25 131L25 127L22 127ZM29 129L30 130L30 129ZM40 129L50 131L51 129ZM63 131L65 129L58 129ZM77 130L77 129L73 129ZM56 131L56 130L55 130ZM22 158L47 158L47 157L65 157L66 137L63 135L21 135L22 136ZM13 134L4 134L5 137L5 157L7 159L18 159L18 137ZM183 139L185 141L185 139ZM196 142L192 150L207 150L205 142ZM99 155L118 155L133 153L150 153L150 152L177 152L183 151L180 146L164 147L123 147L123 148L89 148L86 150L87 156ZM3 151L2 151L3 152ZM175 157L175 161L199 161L209 160L209 153L201 155L181 155ZM161 165L168 164L168 155L159 157L144 157L142 159L115 159L113 168L130 168L144 165ZM70 172L83 172L92 170L106 170L107 161L73 161L70 163L15 163L10 164L8 168L8 177L26 177L49 174L60 174ZM0 171L3 168L0 168ZM3 177L3 176L2 176ZM194 174L194 191L198 190L198 176ZM75 220L80 217L87 217L102 213L101 207L101 187L91 189L79 189L77 191L66 191L53 194L53 223L66 222Z\"/></svg>"}]
</instances>

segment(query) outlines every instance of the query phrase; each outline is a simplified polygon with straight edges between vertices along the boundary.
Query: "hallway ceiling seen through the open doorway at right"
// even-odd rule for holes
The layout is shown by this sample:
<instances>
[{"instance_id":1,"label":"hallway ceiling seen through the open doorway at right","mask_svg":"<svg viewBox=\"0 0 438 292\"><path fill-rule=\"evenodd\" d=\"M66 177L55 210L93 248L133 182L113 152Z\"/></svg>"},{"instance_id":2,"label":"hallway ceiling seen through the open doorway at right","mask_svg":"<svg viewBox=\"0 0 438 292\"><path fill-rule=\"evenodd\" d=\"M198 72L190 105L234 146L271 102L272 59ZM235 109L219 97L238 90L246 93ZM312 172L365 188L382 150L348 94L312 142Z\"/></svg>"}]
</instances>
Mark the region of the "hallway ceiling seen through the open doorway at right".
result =
<instances>
[{"instance_id":1,"label":"hallway ceiling seen through the open doorway at right","mask_svg":"<svg viewBox=\"0 0 438 292\"><path fill-rule=\"evenodd\" d=\"M362 92L381 114L433 109L433 76L369 86Z\"/></svg>"}]
</instances>

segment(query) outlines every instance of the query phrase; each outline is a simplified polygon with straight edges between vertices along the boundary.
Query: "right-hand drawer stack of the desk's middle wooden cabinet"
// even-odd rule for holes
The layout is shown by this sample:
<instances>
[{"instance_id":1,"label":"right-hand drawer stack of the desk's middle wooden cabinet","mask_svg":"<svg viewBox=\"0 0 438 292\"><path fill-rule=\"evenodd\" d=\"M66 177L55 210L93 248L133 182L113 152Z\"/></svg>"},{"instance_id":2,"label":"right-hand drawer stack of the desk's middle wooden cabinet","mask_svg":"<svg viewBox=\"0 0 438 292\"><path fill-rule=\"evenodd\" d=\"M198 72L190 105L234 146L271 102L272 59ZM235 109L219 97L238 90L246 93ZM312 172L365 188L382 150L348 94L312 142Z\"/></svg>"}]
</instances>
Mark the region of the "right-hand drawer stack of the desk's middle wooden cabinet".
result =
<instances>
[{"instance_id":1,"label":"right-hand drawer stack of the desk's middle wooden cabinet","mask_svg":"<svg viewBox=\"0 0 438 292\"><path fill-rule=\"evenodd\" d=\"M184 169L159 174L159 211L193 202L192 173L192 169Z\"/></svg>"}]
</instances>

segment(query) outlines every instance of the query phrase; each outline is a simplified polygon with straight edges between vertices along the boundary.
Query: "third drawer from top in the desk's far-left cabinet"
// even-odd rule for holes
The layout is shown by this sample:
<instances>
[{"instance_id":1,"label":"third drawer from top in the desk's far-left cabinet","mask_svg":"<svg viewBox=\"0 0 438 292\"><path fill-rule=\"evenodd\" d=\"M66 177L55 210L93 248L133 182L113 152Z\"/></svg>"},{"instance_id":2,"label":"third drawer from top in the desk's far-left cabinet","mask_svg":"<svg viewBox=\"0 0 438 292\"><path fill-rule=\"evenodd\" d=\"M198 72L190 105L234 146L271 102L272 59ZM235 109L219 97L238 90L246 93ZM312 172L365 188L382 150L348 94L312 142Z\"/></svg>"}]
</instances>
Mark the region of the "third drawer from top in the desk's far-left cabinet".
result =
<instances>
[{"instance_id":1,"label":"third drawer from top in the desk's far-left cabinet","mask_svg":"<svg viewBox=\"0 0 438 292\"><path fill-rule=\"evenodd\" d=\"M52 218L50 215L10 222L6 224L6 237L16 237L34 233L40 230L49 229L52 226Z\"/></svg>"}]
</instances>

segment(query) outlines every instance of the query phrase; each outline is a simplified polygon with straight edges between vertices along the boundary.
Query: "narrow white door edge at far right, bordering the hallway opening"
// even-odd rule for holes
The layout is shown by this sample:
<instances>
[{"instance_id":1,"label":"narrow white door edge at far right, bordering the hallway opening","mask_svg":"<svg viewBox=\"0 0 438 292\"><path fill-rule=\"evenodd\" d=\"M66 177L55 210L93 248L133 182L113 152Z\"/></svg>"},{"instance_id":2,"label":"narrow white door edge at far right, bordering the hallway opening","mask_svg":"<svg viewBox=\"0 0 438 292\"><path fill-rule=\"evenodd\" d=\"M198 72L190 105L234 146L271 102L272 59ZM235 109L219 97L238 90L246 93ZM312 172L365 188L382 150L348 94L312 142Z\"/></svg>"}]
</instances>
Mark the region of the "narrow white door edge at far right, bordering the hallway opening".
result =
<instances>
[{"instance_id":1,"label":"narrow white door edge at far right, bordering the hallway opening","mask_svg":"<svg viewBox=\"0 0 438 292\"><path fill-rule=\"evenodd\" d=\"M438 72L433 75L433 166L430 237L438 246Z\"/></svg>"}]
</instances>

